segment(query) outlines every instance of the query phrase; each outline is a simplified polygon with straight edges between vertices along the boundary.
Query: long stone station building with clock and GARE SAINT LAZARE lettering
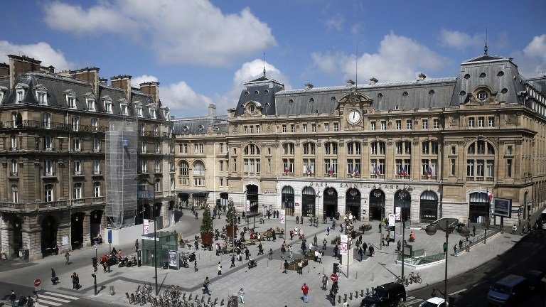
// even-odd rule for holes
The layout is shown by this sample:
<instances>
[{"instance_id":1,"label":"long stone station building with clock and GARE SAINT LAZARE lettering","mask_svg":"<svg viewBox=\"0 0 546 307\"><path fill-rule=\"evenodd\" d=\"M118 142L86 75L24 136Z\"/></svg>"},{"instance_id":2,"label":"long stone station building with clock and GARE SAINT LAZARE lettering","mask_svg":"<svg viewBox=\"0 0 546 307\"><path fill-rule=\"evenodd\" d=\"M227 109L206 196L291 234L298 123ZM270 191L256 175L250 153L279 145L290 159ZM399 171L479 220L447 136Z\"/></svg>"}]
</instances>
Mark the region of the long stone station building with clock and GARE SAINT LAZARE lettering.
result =
<instances>
[{"instance_id":1,"label":"long stone station building with clock and GARE SAINT LAZARE lettering","mask_svg":"<svg viewBox=\"0 0 546 307\"><path fill-rule=\"evenodd\" d=\"M220 168L222 146L227 170L199 188L177 170L176 190L206 195L221 177L239 210L350 211L360 220L399 212L415 223L487 217L498 225L493 199L504 198L512 208L503 222L517 223L545 200L545 95L546 77L525 79L513 59L487 53L455 77L365 85L285 90L264 71L245 83L221 133L175 124L177 167L204 140L203 168Z\"/></svg>"}]
</instances>

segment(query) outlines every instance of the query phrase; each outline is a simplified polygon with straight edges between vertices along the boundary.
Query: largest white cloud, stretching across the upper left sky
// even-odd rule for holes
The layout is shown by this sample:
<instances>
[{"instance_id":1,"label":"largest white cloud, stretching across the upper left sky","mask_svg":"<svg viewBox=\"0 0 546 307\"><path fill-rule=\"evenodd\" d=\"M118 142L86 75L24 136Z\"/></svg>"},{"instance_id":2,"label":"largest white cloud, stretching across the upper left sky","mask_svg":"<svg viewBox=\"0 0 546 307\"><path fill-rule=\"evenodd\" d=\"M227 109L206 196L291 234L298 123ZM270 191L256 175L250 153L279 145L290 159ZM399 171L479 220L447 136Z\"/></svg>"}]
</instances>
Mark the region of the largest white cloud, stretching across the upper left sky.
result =
<instances>
[{"instance_id":1,"label":"largest white cloud, stretching across the upper left sky","mask_svg":"<svg viewBox=\"0 0 546 307\"><path fill-rule=\"evenodd\" d=\"M222 66L276 45L271 28L250 9L224 14L208 0L112 0L88 9L56 1L45 6L45 23L68 33L128 38L162 63Z\"/></svg>"}]
</instances>

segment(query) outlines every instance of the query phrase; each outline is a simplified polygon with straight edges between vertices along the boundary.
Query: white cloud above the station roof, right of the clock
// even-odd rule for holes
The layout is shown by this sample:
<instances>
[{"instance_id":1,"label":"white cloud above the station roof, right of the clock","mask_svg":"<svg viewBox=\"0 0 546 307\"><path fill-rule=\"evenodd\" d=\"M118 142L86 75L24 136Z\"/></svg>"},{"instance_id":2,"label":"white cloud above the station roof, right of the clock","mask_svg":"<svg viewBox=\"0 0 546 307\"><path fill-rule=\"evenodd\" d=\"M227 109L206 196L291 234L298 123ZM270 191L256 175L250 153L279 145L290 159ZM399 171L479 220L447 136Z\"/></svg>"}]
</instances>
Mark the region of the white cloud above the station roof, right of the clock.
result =
<instances>
[{"instance_id":1,"label":"white cloud above the station roof, right of the clock","mask_svg":"<svg viewBox=\"0 0 546 307\"><path fill-rule=\"evenodd\" d=\"M311 59L321 72L341 70L344 79L355 77L355 55L314 53ZM437 72L448 63L427 46L391 32L382 39L377 53L364 53L358 58L358 75L376 77L380 82L413 80L419 72Z\"/></svg>"}]
</instances>

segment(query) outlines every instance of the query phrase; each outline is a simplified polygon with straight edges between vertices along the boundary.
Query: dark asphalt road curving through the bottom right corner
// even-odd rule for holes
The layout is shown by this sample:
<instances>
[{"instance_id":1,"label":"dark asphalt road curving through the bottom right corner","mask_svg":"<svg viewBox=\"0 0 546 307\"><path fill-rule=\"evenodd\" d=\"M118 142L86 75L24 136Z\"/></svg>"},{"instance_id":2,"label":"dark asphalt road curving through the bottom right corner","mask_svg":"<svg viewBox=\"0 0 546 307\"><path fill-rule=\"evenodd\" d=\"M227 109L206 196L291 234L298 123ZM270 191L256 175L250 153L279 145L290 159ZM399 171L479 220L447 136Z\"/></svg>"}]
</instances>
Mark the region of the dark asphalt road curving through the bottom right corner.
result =
<instances>
[{"instance_id":1,"label":"dark asphalt road curving through the bottom right corner","mask_svg":"<svg viewBox=\"0 0 546 307\"><path fill-rule=\"evenodd\" d=\"M487 306L489 287L498 279L509 274L523 275L532 269L546 271L545 242L546 232L532 232L505 254L449 279L447 292L456 298L455 306ZM438 274L444 274L442 264L438 266ZM434 288L443 291L444 282L408 292L407 306L419 306L419 303L431 297ZM546 306L546 302L541 302L540 296L535 295L523 302L522 306Z\"/></svg>"}]
</instances>

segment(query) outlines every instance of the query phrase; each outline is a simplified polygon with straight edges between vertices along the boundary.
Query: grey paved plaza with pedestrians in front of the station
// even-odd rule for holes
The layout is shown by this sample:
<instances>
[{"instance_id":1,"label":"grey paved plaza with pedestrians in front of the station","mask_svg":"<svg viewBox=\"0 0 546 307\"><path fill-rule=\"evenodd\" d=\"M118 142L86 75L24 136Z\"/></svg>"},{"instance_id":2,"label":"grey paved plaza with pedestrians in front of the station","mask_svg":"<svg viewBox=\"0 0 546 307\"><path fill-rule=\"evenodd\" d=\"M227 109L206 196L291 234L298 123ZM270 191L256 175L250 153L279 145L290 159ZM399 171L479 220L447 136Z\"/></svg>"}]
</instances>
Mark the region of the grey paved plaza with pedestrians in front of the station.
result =
<instances>
[{"instance_id":1,"label":"grey paved plaza with pedestrians in front of the station","mask_svg":"<svg viewBox=\"0 0 546 307\"><path fill-rule=\"evenodd\" d=\"M294 217L288 217L287 230L293 229L296 226ZM242 262L236 261L236 267L230 269L230 255L215 256L214 251L198 250L196 252L198 260L198 271L194 272L193 264L188 269L181 268L178 271L167 270L158 268L158 281L162 289L165 289L168 285L182 286L186 292L203 296L202 285L206 276L210 278L212 286L210 286L210 297L212 299L218 298L218 301L225 299L227 301L228 296L232 293L239 291L240 288L245 289L245 303L248 306L298 306L304 304L302 301L301 285L306 283L309 285L309 305L310 306L328 306L327 295L328 291L321 290L321 276L326 274L330 276L332 273L332 267L334 262L338 262L338 259L334 259L333 245L331 239L339 235L340 228L339 222L336 225L335 230L331 230L330 235L326 236L326 227L331 224L319 224L319 227L309 226L309 222L299 224L299 227L303 228L304 235L307 242L312 242L314 235L317 235L319 248L321 248L321 242L324 237L328 240L328 249L323 257L323 263L316 263L312 260L309 262L309 266L304 268L303 274L299 275L296 271L289 271L288 274L283 274L281 264L284 262L281 259L280 247L283 242L283 237L277 237L277 241L263 241L263 247L265 254L257 257L257 245L250 247L252 254L251 258L257 259L258 265L253 269L247 268L247 261L244 257ZM196 225L200 224L200 220L195 220L188 214L184 215L181 222L178 222L168 230L177 230L177 232L183 233L186 239L193 241L196 233L188 233L191 229L194 231L198 229ZM225 217L220 220L214 220L214 227L221 229L225 224ZM368 222L356 222L355 229L362 224L368 224ZM246 222L240 224L240 228L246 226ZM358 298L353 298L351 305L355 302L360 302L360 291L371 289L374 286L385 284L395 280L395 276L400 275L401 266L396 264L396 244L390 244L389 247L379 247L380 233L378 232L378 222L372 222L373 228L370 231L366 231L363 234L363 241L369 244L373 244L375 247L374 257L365 257L363 262L355 262L350 265L348 277L347 267L343 266L343 274L339 274L339 292L338 294L343 297L345 293L359 292ZM252 221L250 222L252 227ZM256 222L256 231L262 232L270 227L284 227L280 224L278 219L265 220L264 224ZM442 252L442 244L445 240L443 232L437 232L434 236L426 235L424 230L407 228L406 239L409 237L410 231L413 230L416 234L416 241L413 243L414 249L425 249L427 254L437 254ZM478 227L477 232L482 232L481 227ZM478 235L478 233L476 233ZM246 236L247 237L247 236ZM294 257L301 257L301 240L296 239L287 242L293 244ZM396 240L400 239L400 225L397 225ZM449 248L459 242L461 237L454 232L449 236ZM498 234L492 238L487 239L486 244L477 244L470 252L464 252L459 254L458 257L449 257L449 276L460 274L464 271L473 269L473 267L479 266L483 262L487 262L488 259L496 257L498 254L502 254L507 249L513 246L520 239L520 235L511 235L508 233ZM128 252L134 252L133 246L121 247L124 249L125 254ZM274 257L272 261L268 260L267 250L274 250ZM99 247L98 254L105 254L108 249L108 244L102 244ZM117 247L119 249L119 247ZM188 252L188 248L181 249ZM191 249L193 252L193 249ZM71 260L74 262L74 266L65 266L63 255L54 257L48 257L38 262L31 264L16 264L11 265L11 270L7 271L8 266L1 266L0 277L4 281L10 281L15 284L21 284L31 286L32 281L36 278L36 268L39 266L54 267L60 276L60 284L52 286L48 282L49 276L40 276L44 281L42 289L44 291L66 291L70 295L79 295L84 297L93 297L92 286L92 273L91 257L95 256L95 249L93 247L87 247L85 249L76 250L73 252ZM244 255L243 255L244 256ZM218 262L222 262L223 274L218 276ZM70 275L73 271L77 271L80 274L80 282L82 289L72 290ZM405 269L405 274L416 271L409 266ZM415 289L425 284L434 284L444 279L444 264L435 264L427 268L419 269L419 274L422 276L422 284L412 284L407 287L408 290ZM16 272L16 274L14 274ZM47 274L47 273L45 273ZM99 287L103 286L102 291L96 296L97 299L120 304L122 306L129 306L125 292L132 293L135 291L139 284L143 282L149 282L154 284L154 268L151 266L130 267L130 268L118 268L112 267L112 272L103 273L100 268L97 275L97 282ZM331 286L331 284L329 284ZM109 293L109 287L114 286L115 294L112 296ZM329 289L329 288L328 288ZM343 301L342 301L343 303ZM341 306L341 303L336 302L336 306Z\"/></svg>"}]
</instances>

